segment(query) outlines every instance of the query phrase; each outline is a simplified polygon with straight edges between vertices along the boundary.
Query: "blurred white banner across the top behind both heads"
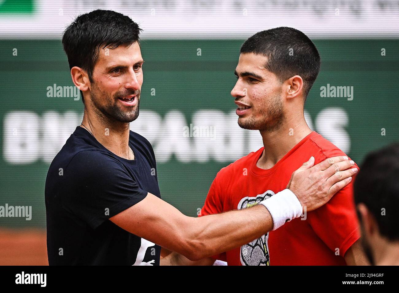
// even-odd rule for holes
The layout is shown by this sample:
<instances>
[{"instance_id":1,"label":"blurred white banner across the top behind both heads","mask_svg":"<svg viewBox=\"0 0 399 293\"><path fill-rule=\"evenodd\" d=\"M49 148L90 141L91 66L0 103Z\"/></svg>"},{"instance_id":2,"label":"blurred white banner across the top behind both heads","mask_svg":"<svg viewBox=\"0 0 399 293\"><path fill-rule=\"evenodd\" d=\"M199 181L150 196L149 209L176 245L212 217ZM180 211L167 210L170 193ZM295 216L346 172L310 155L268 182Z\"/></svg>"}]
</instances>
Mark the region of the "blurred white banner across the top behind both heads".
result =
<instances>
[{"instance_id":1,"label":"blurred white banner across the top behind both heads","mask_svg":"<svg viewBox=\"0 0 399 293\"><path fill-rule=\"evenodd\" d=\"M278 26L311 38L399 37L396 0L30 0L32 11L14 4L12 13L2 9L6 2L0 0L3 39L61 38L77 15L95 9L130 16L144 39L245 39Z\"/></svg>"}]
</instances>

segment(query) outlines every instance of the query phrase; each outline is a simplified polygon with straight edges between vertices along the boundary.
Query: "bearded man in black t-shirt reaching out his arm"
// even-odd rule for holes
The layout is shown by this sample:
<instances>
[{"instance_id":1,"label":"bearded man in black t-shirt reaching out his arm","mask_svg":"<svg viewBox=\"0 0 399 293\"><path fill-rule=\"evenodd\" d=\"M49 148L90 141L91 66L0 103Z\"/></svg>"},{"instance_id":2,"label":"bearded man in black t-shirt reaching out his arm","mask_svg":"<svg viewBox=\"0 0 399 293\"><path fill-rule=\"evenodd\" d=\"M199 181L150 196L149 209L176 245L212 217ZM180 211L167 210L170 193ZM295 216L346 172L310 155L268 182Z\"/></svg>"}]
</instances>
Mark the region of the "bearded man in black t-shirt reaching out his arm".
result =
<instances>
[{"instance_id":1,"label":"bearded man in black t-shirt reaching out his arm","mask_svg":"<svg viewBox=\"0 0 399 293\"><path fill-rule=\"evenodd\" d=\"M287 189L251 208L192 218L161 200L152 147L129 130L143 82L139 33L128 16L95 10L63 35L85 109L47 173L50 265L159 265L158 245L202 259L322 206L350 182L347 157L316 166L311 157Z\"/></svg>"}]
</instances>

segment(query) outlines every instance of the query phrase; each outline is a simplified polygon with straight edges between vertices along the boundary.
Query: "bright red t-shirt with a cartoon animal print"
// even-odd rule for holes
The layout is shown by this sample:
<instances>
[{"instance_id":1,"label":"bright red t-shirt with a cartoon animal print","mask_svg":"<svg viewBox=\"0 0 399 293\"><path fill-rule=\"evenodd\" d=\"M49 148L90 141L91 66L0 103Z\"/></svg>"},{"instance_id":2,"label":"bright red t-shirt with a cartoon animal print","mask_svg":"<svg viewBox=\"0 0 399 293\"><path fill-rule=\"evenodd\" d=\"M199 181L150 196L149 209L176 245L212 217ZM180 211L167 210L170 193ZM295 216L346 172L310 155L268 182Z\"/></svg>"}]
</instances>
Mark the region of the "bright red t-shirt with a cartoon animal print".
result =
<instances>
[{"instance_id":1,"label":"bright red t-shirt with a cartoon animal print","mask_svg":"<svg viewBox=\"0 0 399 293\"><path fill-rule=\"evenodd\" d=\"M310 156L317 164L332 156L345 155L314 131L273 168L256 166L262 153L263 147L217 173L200 216L253 206L273 196L286 188L292 172ZM360 237L352 183L353 180L324 206L307 212L306 220L296 218L214 258L227 261L228 265L346 265L343 256Z\"/></svg>"}]
</instances>

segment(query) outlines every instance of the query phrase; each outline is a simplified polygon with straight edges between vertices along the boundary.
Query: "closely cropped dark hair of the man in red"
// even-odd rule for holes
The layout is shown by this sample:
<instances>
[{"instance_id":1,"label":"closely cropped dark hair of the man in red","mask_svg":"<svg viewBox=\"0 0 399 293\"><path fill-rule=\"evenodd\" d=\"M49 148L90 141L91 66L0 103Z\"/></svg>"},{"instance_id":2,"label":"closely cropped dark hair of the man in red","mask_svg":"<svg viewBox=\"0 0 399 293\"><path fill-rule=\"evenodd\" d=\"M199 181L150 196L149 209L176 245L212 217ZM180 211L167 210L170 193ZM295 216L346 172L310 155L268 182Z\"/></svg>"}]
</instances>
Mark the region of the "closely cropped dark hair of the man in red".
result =
<instances>
[{"instance_id":1,"label":"closely cropped dark hair of the man in red","mask_svg":"<svg viewBox=\"0 0 399 293\"><path fill-rule=\"evenodd\" d=\"M267 57L265 68L281 82L299 75L304 81L304 99L320 71L320 55L313 42L301 31L280 27L258 32L241 46L240 53Z\"/></svg>"}]
</instances>

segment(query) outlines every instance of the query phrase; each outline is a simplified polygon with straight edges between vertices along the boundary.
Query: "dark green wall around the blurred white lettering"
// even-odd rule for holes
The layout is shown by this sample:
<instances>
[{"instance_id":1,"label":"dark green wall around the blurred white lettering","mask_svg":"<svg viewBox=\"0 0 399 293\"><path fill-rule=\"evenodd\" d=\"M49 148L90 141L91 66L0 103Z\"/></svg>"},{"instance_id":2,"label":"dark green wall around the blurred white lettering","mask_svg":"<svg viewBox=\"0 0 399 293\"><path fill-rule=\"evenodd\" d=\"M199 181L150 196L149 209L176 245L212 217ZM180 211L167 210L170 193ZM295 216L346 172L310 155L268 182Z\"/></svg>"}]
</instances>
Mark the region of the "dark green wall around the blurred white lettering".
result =
<instances>
[{"instance_id":1,"label":"dark green wall around the blurred white lettering","mask_svg":"<svg viewBox=\"0 0 399 293\"><path fill-rule=\"evenodd\" d=\"M235 109L230 91L241 40L147 40L142 41L145 60L140 110L162 117L177 109L190 119L199 109L228 113ZM345 109L349 117L348 153L361 163L371 150L398 141L399 109L397 77L399 40L315 40L322 56L322 68L305 109L313 121L326 107ZM13 56L13 49L18 55ZM201 48L201 56L197 49ZM386 55L381 56L381 48ZM67 58L59 40L1 40L0 119L10 111L83 112L83 104L72 98L51 99L47 86L73 85ZM321 98L320 87L354 86L354 99ZM156 89L156 96L150 89ZM77 126L77 125L76 125ZM3 126L4 127L4 126ZM3 127L0 128L0 205L32 206L32 220L0 218L0 226L45 228L44 183L48 163L10 164L3 155ZM381 136L381 128L386 135ZM208 188L220 168L229 162L184 164L174 157L158 163L162 198L184 214L196 216Z\"/></svg>"}]
</instances>

